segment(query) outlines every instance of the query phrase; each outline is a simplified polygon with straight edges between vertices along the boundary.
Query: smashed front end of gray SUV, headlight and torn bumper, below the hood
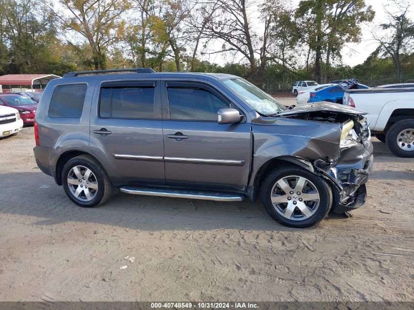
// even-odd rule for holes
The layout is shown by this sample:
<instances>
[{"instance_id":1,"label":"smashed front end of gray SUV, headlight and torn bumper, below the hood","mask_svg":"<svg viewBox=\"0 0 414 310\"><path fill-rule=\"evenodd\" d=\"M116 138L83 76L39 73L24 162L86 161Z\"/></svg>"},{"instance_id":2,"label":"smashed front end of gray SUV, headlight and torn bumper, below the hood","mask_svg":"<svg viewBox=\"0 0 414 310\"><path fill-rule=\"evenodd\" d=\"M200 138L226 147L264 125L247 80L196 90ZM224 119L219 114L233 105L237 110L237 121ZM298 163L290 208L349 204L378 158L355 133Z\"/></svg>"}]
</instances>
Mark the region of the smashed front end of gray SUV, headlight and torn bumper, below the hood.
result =
<instances>
[{"instance_id":1,"label":"smashed front end of gray SUV, headlight and torn bumper, below the hood","mask_svg":"<svg viewBox=\"0 0 414 310\"><path fill-rule=\"evenodd\" d=\"M337 106L337 105L336 105ZM373 147L369 125L361 114L340 111L311 111L285 116L294 119L339 123L341 137L338 155L312 162L315 172L327 179L333 189L332 211L345 213L361 207L366 200L365 183L371 175ZM354 110L355 111L355 110ZM356 111L357 112L357 111Z\"/></svg>"}]
</instances>

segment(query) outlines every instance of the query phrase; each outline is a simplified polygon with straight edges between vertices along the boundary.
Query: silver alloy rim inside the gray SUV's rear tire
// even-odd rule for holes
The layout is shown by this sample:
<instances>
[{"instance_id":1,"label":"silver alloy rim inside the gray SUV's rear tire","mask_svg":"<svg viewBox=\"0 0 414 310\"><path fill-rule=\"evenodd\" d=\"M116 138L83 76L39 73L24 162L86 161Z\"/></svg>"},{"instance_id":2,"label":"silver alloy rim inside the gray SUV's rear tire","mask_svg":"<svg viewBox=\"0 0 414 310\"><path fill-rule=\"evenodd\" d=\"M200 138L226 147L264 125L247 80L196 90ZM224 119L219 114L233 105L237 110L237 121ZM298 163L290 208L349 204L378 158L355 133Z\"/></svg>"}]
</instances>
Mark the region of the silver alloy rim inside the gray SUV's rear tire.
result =
<instances>
[{"instance_id":1,"label":"silver alloy rim inside the gray SUV's rear tire","mask_svg":"<svg viewBox=\"0 0 414 310\"><path fill-rule=\"evenodd\" d=\"M97 195L97 178L91 169L75 166L68 173L68 187L76 199L91 201Z\"/></svg>"}]
</instances>

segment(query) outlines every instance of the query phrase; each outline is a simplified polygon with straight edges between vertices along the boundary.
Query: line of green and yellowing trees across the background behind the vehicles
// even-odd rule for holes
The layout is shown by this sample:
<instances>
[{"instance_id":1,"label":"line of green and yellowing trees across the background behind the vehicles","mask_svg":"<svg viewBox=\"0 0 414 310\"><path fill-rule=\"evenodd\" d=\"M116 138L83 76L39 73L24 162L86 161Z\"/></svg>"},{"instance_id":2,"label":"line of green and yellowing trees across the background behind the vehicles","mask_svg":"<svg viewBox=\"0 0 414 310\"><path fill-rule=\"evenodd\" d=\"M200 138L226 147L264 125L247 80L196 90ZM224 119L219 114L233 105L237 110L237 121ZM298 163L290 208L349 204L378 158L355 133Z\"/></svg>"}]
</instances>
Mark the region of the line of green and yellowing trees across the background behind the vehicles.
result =
<instances>
[{"instance_id":1,"label":"line of green and yellowing trees across the background behind the vehicles","mask_svg":"<svg viewBox=\"0 0 414 310\"><path fill-rule=\"evenodd\" d=\"M302 0L296 9L289 0L262 1L264 31L248 20L253 0L46 1L0 0L0 74L191 70L242 76L271 93L315 75L369 86L414 78L414 24L398 10L379 25L379 47L363 64L341 64L342 46L359 42L373 18L365 0ZM391 1L401 9L407 0ZM215 40L223 45L210 53ZM223 66L197 58L219 50L244 58Z\"/></svg>"}]
</instances>

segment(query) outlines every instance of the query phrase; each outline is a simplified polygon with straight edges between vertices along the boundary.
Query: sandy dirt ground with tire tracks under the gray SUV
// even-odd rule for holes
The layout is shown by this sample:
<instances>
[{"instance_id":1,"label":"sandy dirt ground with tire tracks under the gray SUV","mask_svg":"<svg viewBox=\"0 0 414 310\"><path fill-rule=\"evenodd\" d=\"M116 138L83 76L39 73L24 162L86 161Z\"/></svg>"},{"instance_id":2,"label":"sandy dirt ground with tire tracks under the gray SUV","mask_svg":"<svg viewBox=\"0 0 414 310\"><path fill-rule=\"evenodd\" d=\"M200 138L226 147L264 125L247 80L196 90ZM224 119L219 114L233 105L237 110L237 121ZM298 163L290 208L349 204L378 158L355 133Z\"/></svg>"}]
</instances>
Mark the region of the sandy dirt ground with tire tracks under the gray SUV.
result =
<instances>
[{"instance_id":1,"label":"sandy dirt ground with tire tracks under the gray SUV","mask_svg":"<svg viewBox=\"0 0 414 310\"><path fill-rule=\"evenodd\" d=\"M248 201L77 207L24 127L0 139L0 301L413 301L414 160L373 144L365 206L298 230Z\"/></svg>"}]
</instances>

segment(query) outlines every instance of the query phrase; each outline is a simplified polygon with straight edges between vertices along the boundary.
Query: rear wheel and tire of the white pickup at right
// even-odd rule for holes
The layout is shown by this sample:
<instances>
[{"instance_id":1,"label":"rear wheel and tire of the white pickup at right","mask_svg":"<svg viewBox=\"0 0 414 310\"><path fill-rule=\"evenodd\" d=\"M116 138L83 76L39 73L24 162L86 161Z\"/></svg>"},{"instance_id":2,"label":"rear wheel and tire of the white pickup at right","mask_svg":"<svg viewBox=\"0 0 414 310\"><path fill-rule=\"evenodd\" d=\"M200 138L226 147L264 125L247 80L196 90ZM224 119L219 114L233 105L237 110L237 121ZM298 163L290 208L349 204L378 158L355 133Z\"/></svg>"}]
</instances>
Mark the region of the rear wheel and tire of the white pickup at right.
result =
<instances>
[{"instance_id":1,"label":"rear wheel and tire of the white pickup at right","mask_svg":"<svg viewBox=\"0 0 414 310\"><path fill-rule=\"evenodd\" d=\"M394 123L387 131L386 142L398 157L414 157L414 119Z\"/></svg>"}]
</instances>

